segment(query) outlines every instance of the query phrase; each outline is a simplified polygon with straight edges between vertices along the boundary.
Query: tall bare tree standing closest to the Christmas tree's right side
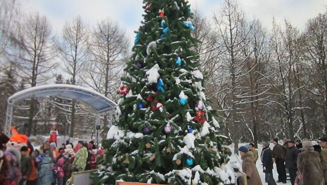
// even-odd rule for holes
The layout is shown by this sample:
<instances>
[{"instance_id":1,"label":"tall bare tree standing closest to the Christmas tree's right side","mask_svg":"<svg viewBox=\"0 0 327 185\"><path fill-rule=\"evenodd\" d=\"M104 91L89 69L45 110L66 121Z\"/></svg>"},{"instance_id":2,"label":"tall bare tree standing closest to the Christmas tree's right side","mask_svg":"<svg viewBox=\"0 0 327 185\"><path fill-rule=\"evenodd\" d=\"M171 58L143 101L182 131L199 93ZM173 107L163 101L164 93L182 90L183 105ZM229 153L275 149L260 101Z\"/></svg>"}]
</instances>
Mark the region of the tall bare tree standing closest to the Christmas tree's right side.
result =
<instances>
[{"instance_id":1,"label":"tall bare tree standing closest to the Christmas tree's right side","mask_svg":"<svg viewBox=\"0 0 327 185\"><path fill-rule=\"evenodd\" d=\"M274 70L270 70L270 51L268 49L268 39L266 37L266 30L262 28L259 20L254 20L252 23L252 30L244 40L243 55L246 58L247 64L244 69L244 75L241 77L244 87L241 94L237 95L241 101L238 103L244 106L249 115L243 117L244 124L250 129L252 138L256 147L259 136L258 130L261 125L260 110L262 105L267 106L267 99L270 96L269 90L271 88L271 77L275 74ZM247 34L248 30L243 33ZM252 122L252 127L248 125Z\"/></svg>"}]
</instances>

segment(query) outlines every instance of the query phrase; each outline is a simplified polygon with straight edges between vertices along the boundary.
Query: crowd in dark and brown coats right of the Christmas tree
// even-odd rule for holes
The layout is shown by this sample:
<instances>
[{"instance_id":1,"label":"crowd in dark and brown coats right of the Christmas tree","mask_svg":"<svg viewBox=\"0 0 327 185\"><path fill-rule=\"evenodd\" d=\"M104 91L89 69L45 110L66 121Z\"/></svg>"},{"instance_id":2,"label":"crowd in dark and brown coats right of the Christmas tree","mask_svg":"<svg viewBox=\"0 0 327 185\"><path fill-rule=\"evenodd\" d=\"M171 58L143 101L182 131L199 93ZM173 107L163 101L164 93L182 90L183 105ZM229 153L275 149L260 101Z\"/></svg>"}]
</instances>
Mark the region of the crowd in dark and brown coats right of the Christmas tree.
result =
<instances>
[{"instance_id":1,"label":"crowd in dark and brown coats right of the Christmas tree","mask_svg":"<svg viewBox=\"0 0 327 185\"><path fill-rule=\"evenodd\" d=\"M237 184L262 184L256 166L258 158L261 159L268 185L287 183L287 172L292 185L327 184L327 137L319 138L318 142L285 138L282 145L278 141L278 138L271 141L274 144L272 150L270 143L264 142L260 156L253 143L238 148L242 159L242 174L237 178ZM274 162L278 173L277 181L273 177Z\"/></svg>"}]
</instances>

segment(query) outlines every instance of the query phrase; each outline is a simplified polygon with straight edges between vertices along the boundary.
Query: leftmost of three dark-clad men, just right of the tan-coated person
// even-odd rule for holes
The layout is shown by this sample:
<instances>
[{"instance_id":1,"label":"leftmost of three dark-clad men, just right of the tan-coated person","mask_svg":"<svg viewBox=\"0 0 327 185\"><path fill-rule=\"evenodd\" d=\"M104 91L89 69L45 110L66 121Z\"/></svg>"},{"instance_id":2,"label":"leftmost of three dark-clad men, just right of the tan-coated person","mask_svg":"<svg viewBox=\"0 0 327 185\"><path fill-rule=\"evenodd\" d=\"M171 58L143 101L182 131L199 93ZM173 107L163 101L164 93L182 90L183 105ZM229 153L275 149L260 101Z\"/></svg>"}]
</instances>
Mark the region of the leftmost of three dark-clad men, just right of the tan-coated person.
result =
<instances>
[{"instance_id":1,"label":"leftmost of three dark-clad men, just right of the tan-coated person","mask_svg":"<svg viewBox=\"0 0 327 185\"><path fill-rule=\"evenodd\" d=\"M268 185L276 185L273 176L273 151L269 148L269 143L264 142L262 146L263 149L260 156L264 168L265 180L268 182Z\"/></svg>"}]
</instances>

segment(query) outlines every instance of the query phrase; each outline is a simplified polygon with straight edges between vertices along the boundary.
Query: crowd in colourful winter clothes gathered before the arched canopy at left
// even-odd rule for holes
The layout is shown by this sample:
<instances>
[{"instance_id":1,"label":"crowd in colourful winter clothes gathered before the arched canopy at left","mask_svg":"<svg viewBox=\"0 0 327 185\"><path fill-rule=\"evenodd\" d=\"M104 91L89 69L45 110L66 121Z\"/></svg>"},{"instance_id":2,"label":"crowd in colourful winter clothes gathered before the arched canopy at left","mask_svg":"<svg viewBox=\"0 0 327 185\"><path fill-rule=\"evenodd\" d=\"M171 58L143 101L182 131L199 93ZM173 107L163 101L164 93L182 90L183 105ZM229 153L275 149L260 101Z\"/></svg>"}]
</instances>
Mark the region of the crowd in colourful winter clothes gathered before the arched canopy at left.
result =
<instances>
[{"instance_id":1,"label":"crowd in colourful winter clothes gathered before the arched canopy at left","mask_svg":"<svg viewBox=\"0 0 327 185\"><path fill-rule=\"evenodd\" d=\"M96 169L97 157L104 152L94 141L78 141L75 146L66 141L60 147L46 141L40 149L29 144L18 151L6 147L5 134L0 133L0 140L0 184L5 185L66 184L72 172Z\"/></svg>"}]
</instances>

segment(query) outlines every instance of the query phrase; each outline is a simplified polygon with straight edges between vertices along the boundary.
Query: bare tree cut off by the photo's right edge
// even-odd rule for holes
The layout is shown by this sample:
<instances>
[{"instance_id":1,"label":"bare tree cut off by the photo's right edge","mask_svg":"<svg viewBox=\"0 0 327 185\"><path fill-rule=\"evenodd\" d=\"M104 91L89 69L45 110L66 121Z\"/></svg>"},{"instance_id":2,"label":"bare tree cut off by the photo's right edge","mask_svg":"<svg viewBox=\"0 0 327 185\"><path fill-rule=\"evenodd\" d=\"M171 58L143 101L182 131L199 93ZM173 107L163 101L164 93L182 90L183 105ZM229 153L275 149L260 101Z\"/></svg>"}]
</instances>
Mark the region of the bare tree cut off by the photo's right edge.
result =
<instances>
[{"instance_id":1,"label":"bare tree cut off by the photo's right edge","mask_svg":"<svg viewBox=\"0 0 327 185\"><path fill-rule=\"evenodd\" d=\"M305 28L305 58L308 63L308 91L313 95L313 100L322 112L323 134L327 130L327 13L318 14L310 19ZM318 116L318 115L317 115ZM315 120L317 121L317 120Z\"/></svg>"}]
</instances>

